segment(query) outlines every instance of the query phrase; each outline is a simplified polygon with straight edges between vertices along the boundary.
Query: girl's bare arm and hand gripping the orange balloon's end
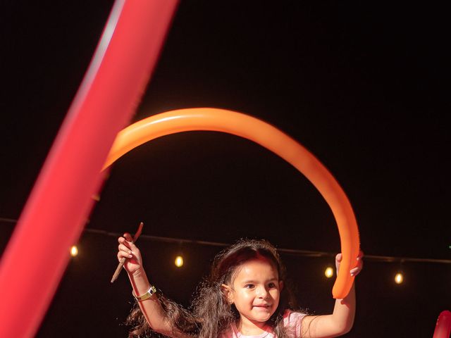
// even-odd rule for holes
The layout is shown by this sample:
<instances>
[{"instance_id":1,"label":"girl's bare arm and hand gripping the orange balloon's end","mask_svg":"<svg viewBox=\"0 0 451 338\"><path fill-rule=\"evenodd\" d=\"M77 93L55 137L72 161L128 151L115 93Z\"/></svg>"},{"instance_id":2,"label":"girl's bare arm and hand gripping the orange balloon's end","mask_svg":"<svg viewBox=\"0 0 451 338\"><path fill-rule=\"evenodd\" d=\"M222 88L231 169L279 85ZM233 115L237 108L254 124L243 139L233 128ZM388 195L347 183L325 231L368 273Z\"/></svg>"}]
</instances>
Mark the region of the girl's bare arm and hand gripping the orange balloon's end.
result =
<instances>
[{"instance_id":1,"label":"girl's bare arm and hand gripping the orange balloon's end","mask_svg":"<svg viewBox=\"0 0 451 338\"><path fill-rule=\"evenodd\" d=\"M363 253L360 251L357 257L357 266L353 268L351 275L357 275L363 267ZM335 257L337 271L340 268L341 253ZM355 315L355 289L354 284L350 293L344 299L336 299L333 313L330 315L307 315L302 320L302 337L326 338L338 337L350 332L354 324Z\"/></svg>"}]
</instances>

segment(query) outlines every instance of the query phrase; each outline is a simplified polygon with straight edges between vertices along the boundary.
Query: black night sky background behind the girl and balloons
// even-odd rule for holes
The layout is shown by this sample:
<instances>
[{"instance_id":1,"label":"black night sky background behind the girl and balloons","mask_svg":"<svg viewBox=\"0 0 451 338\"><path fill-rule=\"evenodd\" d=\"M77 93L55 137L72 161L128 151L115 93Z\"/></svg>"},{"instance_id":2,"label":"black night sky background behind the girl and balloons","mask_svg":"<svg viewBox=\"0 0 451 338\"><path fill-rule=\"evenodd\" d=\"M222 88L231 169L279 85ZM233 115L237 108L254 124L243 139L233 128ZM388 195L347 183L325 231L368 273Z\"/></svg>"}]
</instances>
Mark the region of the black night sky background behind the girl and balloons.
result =
<instances>
[{"instance_id":1,"label":"black night sky background behind the girl and balloons","mask_svg":"<svg viewBox=\"0 0 451 338\"><path fill-rule=\"evenodd\" d=\"M1 251L112 4L1 3ZM241 111L290 134L326 165L352 203L366 255L395 257L366 259L346 337L432 337L440 312L451 309L450 263L398 259L450 260L448 21L434 2L181 1L134 116L200 106ZM109 282L116 237L92 230L134 232L141 220L152 236L340 250L326 202L276 155L216 132L162 137L113 165L37 337L126 336L131 289L125 273ZM151 282L184 304L221 249L145 238L140 247ZM323 270L333 258L283 258L301 305L332 311L333 280Z\"/></svg>"}]
</instances>

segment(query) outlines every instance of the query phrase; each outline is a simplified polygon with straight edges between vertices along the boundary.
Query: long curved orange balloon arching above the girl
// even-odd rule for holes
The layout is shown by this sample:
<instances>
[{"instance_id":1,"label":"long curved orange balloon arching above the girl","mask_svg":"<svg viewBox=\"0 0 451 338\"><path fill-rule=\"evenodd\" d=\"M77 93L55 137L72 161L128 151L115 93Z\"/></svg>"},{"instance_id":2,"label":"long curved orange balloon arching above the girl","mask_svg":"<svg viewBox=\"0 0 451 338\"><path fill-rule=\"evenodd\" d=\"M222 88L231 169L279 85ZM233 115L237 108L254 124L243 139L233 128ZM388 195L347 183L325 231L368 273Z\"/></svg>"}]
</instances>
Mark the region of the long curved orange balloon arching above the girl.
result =
<instances>
[{"instance_id":1,"label":"long curved orange balloon arching above the girl","mask_svg":"<svg viewBox=\"0 0 451 338\"><path fill-rule=\"evenodd\" d=\"M342 262L332 294L335 299L345 298L354 282L350 270L357 266L359 254L359 230L350 201L326 167L304 146L276 127L252 116L225 109L187 108L168 111L144 118L119 132L104 168L144 142L192 130L227 132L250 139L291 163L314 184L326 199L338 225Z\"/></svg>"}]
</instances>

